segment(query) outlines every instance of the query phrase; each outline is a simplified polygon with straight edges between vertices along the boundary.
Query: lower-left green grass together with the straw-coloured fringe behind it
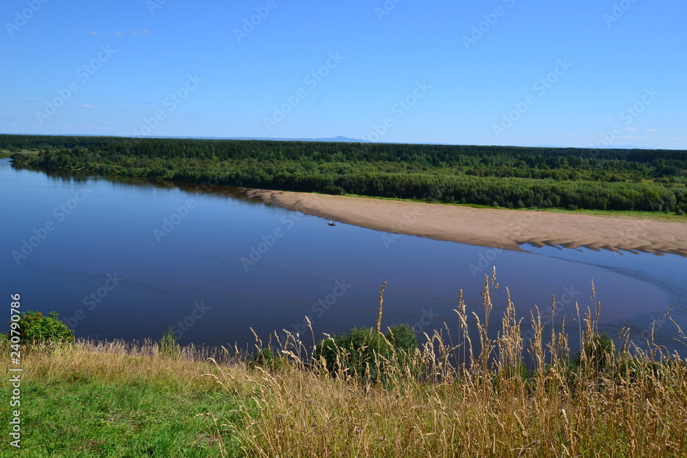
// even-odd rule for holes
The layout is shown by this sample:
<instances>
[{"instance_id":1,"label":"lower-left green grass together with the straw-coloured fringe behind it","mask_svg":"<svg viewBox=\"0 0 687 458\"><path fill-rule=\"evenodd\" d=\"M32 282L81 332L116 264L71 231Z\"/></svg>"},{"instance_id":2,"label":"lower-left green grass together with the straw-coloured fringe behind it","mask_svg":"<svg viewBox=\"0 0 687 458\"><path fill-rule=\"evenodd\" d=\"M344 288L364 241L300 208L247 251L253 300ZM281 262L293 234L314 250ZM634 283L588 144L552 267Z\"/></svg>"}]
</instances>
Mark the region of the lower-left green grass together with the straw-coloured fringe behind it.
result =
<instances>
[{"instance_id":1,"label":"lower-left green grass together with the straw-coloured fringe behind it","mask_svg":"<svg viewBox=\"0 0 687 458\"><path fill-rule=\"evenodd\" d=\"M202 377L212 365L177 359L166 368L159 359L154 371L144 373L140 369L150 365L151 356L109 355L99 363L88 352L86 347L69 355L43 354L40 362L34 352L27 358L19 407L21 450L4 438L0 456L244 456L231 429L221 426L240 424L240 404L214 379ZM65 360L70 355L77 364ZM179 363L190 371L175 376L183 372L173 367ZM3 402L9 402L11 391L10 383L3 383ZM0 418L8 424L8 409Z\"/></svg>"}]
</instances>

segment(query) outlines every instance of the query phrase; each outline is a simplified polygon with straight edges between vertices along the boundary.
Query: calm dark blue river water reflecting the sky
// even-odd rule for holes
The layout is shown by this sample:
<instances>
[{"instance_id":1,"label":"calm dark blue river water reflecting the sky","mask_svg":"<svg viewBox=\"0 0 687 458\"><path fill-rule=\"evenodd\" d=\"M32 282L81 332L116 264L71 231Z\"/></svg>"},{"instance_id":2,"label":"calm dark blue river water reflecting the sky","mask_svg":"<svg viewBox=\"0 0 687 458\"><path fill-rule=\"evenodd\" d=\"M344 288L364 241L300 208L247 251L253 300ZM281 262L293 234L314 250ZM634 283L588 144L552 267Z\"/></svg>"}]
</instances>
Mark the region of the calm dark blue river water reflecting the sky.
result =
<instances>
[{"instance_id":1,"label":"calm dark blue river water reflecting the sky","mask_svg":"<svg viewBox=\"0 0 687 458\"><path fill-rule=\"evenodd\" d=\"M1 297L8 304L19 292L23 310L55 310L76 336L157 339L173 325L181 343L245 347L250 328L263 338L302 332L305 316L317 337L372 326L387 282L384 326L431 333L445 322L456 336L458 291L480 314L484 273L495 265L493 330L506 286L521 316L534 306L548 314L556 295L554 321L567 315L574 346L574 304L592 305L594 279L601 330L629 327L642 340L658 320L660 343L687 354L675 326L661 322L674 304L671 316L687 328L685 258L388 238L208 189L18 170L0 159ZM52 231L41 230L46 223Z\"/></svg>"}]
</instances>

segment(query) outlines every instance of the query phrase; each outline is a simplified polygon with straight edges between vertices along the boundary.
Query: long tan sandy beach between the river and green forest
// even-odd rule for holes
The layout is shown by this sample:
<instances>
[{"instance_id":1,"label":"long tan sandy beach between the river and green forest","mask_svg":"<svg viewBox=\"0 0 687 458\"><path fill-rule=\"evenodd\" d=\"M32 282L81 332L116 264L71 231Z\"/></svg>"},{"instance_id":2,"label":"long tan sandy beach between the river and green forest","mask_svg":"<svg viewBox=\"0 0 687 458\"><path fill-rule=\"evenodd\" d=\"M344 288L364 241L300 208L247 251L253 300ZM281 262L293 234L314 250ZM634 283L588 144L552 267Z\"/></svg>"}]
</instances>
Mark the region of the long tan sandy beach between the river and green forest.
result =
<instances>
[{"instance_id":1,"label":"long tan sandy beach between the river and green forest","mask_svg":"<svg viewBox=\"0 0 687 458\"><path fill-rule=\"evenodd\" d=\"M262 201L377 231L519 250L520 244L687 257L687 223L627 216L477 209L304 192L246 190Z\"/></svg>"}]
</instances>

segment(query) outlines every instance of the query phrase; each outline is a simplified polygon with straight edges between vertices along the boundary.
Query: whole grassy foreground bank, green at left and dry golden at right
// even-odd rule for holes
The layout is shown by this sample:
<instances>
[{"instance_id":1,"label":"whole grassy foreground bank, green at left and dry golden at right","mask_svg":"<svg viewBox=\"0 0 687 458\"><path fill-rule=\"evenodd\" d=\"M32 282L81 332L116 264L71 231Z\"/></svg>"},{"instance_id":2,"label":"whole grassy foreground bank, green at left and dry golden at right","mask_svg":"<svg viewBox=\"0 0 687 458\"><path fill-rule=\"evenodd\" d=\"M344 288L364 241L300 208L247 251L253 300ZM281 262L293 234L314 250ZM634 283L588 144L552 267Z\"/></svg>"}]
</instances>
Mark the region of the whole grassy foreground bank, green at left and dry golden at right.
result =
<instances>
[{"instance_id":1,"label":"whole grassy foreground bank, green at left and dry golden at right","mask_svg":"<svg viewBox=\"0 0 687 458\"><path fill-rule=\"evenodd\" d=\"M151 342L26 348L19 456L684 456L682 358L613 344L596 331L598 304L571 337L537 316L521 323L513 304L495 326L495 287L475 334L451 339L447 327L406 352L358 330L328 341L332 364L295 336L253 360ZM471 311L462 300L456 311L466 329ZM8 358L0 365L8 374ZM16 451L5 439L0 453Z\"/></svg>"}]
</instances>

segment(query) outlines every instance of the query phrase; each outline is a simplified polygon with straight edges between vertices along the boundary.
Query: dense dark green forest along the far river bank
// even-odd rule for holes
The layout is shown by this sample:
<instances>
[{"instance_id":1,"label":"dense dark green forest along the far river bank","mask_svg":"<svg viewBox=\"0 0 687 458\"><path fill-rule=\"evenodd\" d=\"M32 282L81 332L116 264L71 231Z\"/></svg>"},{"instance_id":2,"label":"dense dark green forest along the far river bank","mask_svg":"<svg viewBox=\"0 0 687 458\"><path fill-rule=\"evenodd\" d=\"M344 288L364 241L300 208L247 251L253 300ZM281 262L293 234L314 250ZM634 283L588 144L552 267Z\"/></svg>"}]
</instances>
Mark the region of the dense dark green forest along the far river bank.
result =
<instances>
[{"instance_id":1,"label":"dense dark green forest along the far river bank","mask_svg":"<svg viewBox=\"0 0 687 458\"><path fill-rule=\"evenodd\" d=\"M0 135L18 164L329 194L687 211L687 151Z\"/></svg>"}]
</instances>

